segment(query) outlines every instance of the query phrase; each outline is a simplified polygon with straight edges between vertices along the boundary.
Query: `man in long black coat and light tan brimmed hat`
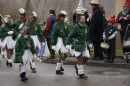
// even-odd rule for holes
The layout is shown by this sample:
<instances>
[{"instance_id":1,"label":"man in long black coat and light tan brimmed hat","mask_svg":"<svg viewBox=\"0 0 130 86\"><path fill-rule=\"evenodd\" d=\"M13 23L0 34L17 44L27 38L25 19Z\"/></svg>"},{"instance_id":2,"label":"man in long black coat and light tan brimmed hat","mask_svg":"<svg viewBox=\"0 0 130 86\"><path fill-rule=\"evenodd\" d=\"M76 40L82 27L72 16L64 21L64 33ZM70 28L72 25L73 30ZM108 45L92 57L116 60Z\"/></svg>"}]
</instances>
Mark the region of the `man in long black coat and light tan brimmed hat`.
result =
<instances>
[{"instance_id":1,"label":"man in long black coat and light tan brimmed hat","mask_svg":"<svg viewBox=\"0 0 130 86\"><path fill-rule=\"evenodd\" d=\"M103 60L102 48L100 46L103 41L103 12L99 8L98 0L91 1L91 7L93 9L93 15L89 28L90 40L94 45L94 57L95 60Z\"/></svg>"}]
</instances>

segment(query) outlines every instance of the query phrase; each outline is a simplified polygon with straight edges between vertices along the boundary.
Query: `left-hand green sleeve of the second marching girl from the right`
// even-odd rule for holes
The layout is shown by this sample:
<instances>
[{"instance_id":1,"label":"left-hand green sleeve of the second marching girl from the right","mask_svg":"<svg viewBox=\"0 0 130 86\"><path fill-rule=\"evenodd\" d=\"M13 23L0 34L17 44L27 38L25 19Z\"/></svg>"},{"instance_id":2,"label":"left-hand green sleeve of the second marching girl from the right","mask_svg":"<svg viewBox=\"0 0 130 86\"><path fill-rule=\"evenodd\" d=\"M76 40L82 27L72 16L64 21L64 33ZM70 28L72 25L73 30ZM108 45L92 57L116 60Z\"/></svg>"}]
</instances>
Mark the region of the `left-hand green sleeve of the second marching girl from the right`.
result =
<instances>
[{"instance_id":1,"label":"left-hand green sleeve of the second marching girl from the right","mask_svg":"<svg viewBox=\"0 0 130 86\"><path fill-rule=\"evenodd\" d=\"M51 45L56 45L57 43L57 35L58 35L58 27L54 24L52 33L51 33Z\"/></svg>"}]
</instances>

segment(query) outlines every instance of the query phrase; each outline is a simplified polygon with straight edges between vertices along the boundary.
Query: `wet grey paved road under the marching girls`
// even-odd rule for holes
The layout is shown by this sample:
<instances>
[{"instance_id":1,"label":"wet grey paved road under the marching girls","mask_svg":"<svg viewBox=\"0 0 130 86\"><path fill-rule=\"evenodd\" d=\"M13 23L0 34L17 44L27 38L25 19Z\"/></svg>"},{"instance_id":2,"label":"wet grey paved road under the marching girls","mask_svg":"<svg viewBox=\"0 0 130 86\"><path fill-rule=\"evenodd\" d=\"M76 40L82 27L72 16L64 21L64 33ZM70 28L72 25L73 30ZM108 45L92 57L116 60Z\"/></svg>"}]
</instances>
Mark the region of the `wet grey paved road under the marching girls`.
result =
<instances>
[{"instance_id":1,"label":"wet grey paved road under the marching girls","mask_svg":"<svg viewBox=\"0 0 130 86\"><path fill-rule=\"evenodd\" d=\"M37 73L31 73L27 66L27 82L19 78L18 64L13 68L5 66L6 59L1 59L0 86L130 86L130 70L115 68L100 68L84 66L87 80L82 80L75 74L73 65L64 65L65 74L55 74L54 64L36 62Z\"/></svg>"}]
</instances>

